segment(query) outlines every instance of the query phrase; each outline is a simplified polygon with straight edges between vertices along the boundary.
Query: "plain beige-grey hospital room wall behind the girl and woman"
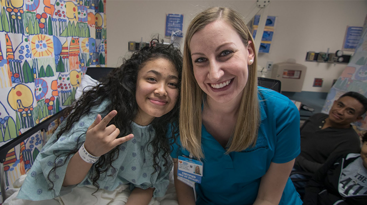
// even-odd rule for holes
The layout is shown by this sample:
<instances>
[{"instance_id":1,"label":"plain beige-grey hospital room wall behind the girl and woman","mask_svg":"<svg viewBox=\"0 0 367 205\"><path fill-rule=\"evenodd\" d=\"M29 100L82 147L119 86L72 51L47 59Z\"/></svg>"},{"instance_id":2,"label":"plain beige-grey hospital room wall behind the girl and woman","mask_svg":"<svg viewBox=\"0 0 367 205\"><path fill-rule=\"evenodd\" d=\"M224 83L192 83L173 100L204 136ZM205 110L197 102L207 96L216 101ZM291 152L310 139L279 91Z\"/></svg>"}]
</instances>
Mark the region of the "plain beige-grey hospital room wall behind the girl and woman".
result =
<instances>
[{"instance_id":1,"label":"plain beige-grey hospital room wall behind the girl and woman","mask_svg":"<svg viewBox=\"0 0 367 205\"><path fill-rule=\"evenodd\" d=\"M243 16L256 0L107 0L107 65L118 66L129 57L128 41L150 41L164 36L165 14L184 14L184 32L189 21L209 6L227 6ZM275 33L269 54L259 54L258 64L284 62L289 58L307 66L302 91L328 92L346 64L305 62L307 51L340 50L346 26L363 26L366 0L271 0L269 16L276 16ZM164 39L169 42L169 39ZM353 54L353 52L344 52ZM267 74L270 76L270 74ZM314 78L324 80L312 87Z\"/></svg>"}]
</instances>

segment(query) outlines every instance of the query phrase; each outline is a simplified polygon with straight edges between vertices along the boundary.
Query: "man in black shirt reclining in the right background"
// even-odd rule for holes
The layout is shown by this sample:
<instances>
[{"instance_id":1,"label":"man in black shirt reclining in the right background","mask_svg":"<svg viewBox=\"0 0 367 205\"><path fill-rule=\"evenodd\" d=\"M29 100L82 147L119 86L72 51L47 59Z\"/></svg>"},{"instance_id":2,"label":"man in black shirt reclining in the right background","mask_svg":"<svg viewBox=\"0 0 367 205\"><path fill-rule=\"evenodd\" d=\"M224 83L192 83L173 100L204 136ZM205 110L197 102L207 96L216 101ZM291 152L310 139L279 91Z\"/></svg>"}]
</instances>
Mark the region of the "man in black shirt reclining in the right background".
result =
<instances>
[{"instance_id":1,"label":"man in black shirt reclining in the right background","mask_svg":"<svg viewBox=\"0 0 367 205\"><path fill-rule=\"evenodd\" d=\"M357 92L347 92L333 102L329 115L312 115L300 128L301 153L296 158L292 172L301 171L303 175L311 176L330 156L359 153L360 138L350 123L361 120L366 111L366 97ZM295 178L305 177L299 174L293 176L291 173L291 179ZM298 190L306 183L294 184Z\"/></svg>"}]
</instances>

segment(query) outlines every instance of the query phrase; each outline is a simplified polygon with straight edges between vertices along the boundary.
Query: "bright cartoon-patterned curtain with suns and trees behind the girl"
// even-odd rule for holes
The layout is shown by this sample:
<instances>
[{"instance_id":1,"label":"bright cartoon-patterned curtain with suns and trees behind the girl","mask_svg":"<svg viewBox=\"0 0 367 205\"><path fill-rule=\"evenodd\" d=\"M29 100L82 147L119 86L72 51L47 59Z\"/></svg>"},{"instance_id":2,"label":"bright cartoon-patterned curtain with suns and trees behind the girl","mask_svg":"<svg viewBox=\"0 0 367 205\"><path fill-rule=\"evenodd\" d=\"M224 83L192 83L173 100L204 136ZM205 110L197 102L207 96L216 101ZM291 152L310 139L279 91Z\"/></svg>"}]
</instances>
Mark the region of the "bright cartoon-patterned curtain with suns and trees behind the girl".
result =
<instances>
[{"instance_id":1,"label":"bright cartoon-patterned curtain with suns and trees behind the girl","mask_svg":"<svg viewBox=\"0 0 367 205\"><path fill-rule=\"evenodd\" d=\"M106 0L0 0L0 146L69 106L87 67L105 65L105 8ZM6 188L45 141L36 133L8 152Z\"/></svg>"}]
</instances>

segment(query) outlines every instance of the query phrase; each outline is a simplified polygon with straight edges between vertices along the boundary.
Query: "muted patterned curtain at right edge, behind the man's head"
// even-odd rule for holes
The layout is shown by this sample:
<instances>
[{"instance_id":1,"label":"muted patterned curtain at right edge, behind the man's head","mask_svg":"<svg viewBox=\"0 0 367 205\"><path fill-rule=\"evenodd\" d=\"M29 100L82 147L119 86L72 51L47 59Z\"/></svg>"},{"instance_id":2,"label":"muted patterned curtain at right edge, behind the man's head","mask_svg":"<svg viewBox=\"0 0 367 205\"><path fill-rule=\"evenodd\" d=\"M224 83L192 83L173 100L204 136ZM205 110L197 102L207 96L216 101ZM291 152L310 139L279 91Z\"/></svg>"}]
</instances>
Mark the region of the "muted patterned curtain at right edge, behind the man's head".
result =
<instances>
[{"instance_id":1,"label":"muted patterned curtain at right edge, behind the man's head","mask_svg":"<svg viewBox=\"0 0 367 205\"><path fill-rule=\"evenodd\" d=\"M348 66L327 94L321 112L329 113L332 103L349 91L358 92L367 97L367 16L358 46ZM367 130L366 114L363 117L362 120L354 123L354 128L360 135Z\"/></svg>"}]
</instances>

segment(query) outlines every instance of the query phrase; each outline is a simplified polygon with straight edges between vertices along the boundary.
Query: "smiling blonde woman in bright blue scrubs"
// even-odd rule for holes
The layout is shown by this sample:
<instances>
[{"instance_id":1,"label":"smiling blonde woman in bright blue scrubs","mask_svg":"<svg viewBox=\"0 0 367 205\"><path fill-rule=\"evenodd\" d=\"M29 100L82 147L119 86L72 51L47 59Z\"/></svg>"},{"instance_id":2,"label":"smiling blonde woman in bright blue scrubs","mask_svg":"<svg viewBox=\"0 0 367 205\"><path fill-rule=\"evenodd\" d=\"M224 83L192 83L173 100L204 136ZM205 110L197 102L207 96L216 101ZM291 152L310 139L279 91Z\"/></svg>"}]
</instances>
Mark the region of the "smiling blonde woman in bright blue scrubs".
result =
<instances>
[{"instance_id":1,"label":"smiling blonde woman in bright blue scrubs","mask_svg":"<svg viewBox=\"0 0 367 205\"><path fill-rule=\"evenodd\" d=\"M180 205L302 204L289 179L300 152L298 109L257 87L256 72L252 35L237 12L209 8L191 21L171 154ZM177 178L179 157L203 163L195 193Z\"/></svg>"}]
</instances>

